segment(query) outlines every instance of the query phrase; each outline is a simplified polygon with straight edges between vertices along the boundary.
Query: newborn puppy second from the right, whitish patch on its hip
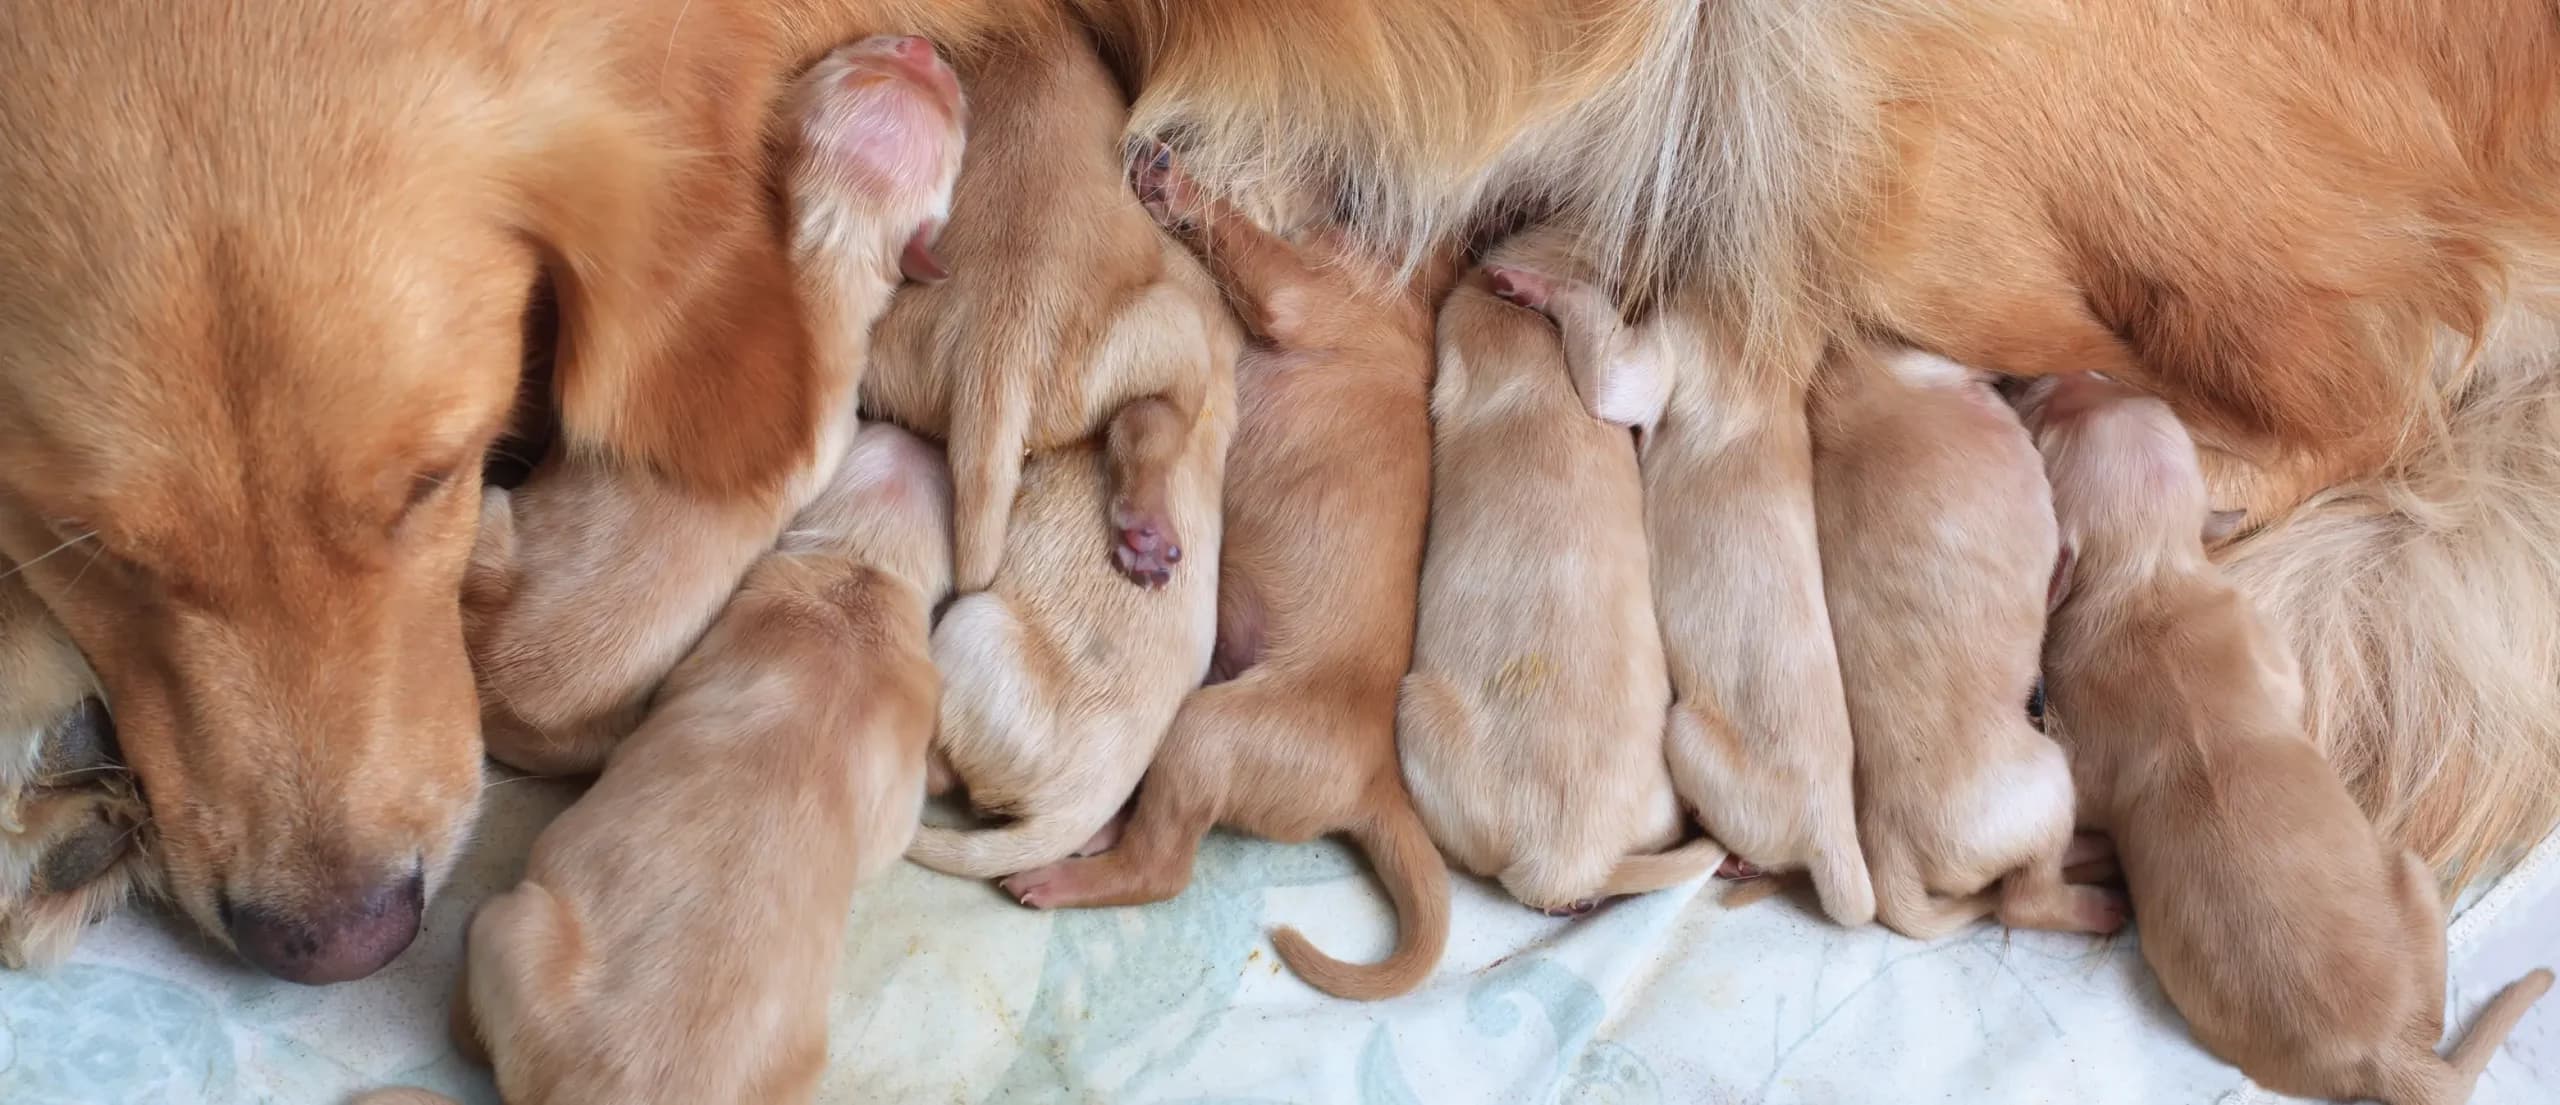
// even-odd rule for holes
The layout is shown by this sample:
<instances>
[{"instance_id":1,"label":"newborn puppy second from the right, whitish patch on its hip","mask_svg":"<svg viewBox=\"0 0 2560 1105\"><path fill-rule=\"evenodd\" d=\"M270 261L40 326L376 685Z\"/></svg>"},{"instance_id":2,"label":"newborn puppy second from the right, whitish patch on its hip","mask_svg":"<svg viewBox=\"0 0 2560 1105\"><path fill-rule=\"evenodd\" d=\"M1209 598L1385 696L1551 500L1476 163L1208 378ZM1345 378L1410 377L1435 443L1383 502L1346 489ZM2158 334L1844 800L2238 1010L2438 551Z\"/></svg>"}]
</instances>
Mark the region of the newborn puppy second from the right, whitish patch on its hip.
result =
<instances>
[{"instance_id":1,"label":"newborn puppy second from the right, whitish patch on its hip","mask_svg":"<svg viewBox=\"0 0 2560 1105\"><path fill-rule=\"evenodd\" d=\"M2056 555L2035 445L1956 363L1843 350L1825 373L1812 501L1876 916L2115 931L2120 900L2063 882L2071 767L2022 709Z\"/></svg>"}]
</instances>

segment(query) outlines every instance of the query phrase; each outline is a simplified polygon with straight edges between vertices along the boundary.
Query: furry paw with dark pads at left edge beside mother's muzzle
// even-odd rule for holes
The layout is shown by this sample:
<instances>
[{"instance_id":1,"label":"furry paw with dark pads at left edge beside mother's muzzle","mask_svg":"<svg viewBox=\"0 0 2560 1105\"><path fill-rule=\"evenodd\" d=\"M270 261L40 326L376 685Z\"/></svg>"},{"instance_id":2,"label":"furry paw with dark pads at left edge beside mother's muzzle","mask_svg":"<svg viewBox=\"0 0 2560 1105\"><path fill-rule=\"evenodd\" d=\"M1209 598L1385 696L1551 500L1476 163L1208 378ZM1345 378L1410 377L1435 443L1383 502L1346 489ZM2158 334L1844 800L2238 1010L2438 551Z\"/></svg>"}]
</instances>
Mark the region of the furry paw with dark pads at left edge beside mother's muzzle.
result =
<instances>
[{"instance_id":1,"label":"furry paw with dark pads at left edge beside mother's muzzle","mask_svg":"<svg viewBox=\"0 0 2560 1105\"><path fill-rule=\"evenodd\" d=\"M156 893L151 816L79 650L0 560L0 967L51 967Z\"/></svg>"}]
</instances>

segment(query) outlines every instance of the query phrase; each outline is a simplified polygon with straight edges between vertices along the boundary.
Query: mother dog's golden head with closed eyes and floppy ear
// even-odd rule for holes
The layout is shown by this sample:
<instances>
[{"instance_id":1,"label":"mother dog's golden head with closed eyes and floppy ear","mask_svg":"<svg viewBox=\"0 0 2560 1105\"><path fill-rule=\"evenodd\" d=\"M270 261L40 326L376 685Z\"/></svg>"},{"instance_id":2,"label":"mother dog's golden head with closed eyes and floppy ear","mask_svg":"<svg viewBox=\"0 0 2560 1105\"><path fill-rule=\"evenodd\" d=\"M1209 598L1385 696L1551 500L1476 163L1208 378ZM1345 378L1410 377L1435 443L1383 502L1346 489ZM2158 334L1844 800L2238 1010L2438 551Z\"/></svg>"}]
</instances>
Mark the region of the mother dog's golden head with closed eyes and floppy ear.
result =
<instances>
[{"instance_id":1,"label":"mother dog's golden head with closed eyes and floppy ear","mask_svg":"<svg viewBox=\"0 0 2560 1105\"><path fill-rule=\"evenodd\" d=\"M704 491L794 448L753 174L663 151L753 156L758 100L573 8L0 0L0 555L182 908L289 980L397 957L468 831L456 588L535 286L571 448Z\"/></svg>"}]
</instances>

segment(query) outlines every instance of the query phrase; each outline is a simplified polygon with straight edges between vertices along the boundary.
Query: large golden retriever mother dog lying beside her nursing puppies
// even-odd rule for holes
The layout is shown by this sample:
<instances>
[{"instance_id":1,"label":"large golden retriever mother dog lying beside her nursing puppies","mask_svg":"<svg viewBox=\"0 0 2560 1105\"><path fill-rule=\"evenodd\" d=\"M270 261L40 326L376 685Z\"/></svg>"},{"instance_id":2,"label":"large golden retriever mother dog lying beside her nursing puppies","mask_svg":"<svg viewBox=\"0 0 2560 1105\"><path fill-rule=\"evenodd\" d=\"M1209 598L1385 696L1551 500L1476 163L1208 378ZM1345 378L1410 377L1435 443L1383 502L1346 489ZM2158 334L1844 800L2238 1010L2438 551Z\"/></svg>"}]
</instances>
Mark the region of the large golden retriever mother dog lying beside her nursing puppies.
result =
<instances>
[{"instance_id":1,"label":"large golden retriever mother dog lying beside her nursing puppies","mask_svg":"<svg viewBox=\"0 0 2560 1105\"><path fill-rule=\"evenodd\" d=\"M310 982L410 941L476 795L456 581L535 286L566 448L771 496L819 417L783 82L1060 10L1211 187L1403 251L1605 228L1628 312L1728 322L1738 371L1871 327L2163 394L2383 834L2560 819L2547 0L0 0L0 558L195 921Z\"/></svg>"}]
</instances>

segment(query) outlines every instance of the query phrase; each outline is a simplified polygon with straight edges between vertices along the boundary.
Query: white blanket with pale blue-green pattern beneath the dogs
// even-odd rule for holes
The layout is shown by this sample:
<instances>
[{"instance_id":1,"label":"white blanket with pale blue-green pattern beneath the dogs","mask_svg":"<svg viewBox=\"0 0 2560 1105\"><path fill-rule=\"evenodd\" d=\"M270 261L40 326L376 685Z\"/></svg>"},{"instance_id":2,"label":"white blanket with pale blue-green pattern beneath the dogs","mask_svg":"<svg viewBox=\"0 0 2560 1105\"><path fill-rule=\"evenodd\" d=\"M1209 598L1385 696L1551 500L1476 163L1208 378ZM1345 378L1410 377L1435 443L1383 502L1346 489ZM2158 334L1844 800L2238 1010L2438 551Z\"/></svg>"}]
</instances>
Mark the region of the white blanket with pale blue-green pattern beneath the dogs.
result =
<instances>
[{"instance_id":1,"label":"white blanket with pale blue-green pattern beneath the dogs","mask_svg":"<svg viewBox=\"0 0 2560 1105\"><path fill-rule=\"evenodd\" d=\"M573 790L489 793L476 852L387 972L266 980L179 921L123 916L49 975L0 975L0 1102L335 1105L410 1082L494 1102L445 1044L461 926ZM2560 959L2560 839L2452 926L2455 1026ZM2199 1051L2130 939L1971 929L1915 944L1715 888L1549 921L1459 880L1449 959L1416 995L1329 1000L1275 962L1295 923L1344 957L1393 918L1344 847L1213 836L1183 898L1032 913L901 865L845 931L827 1102L2258 1102ZM2481 1105L2560 1102L2560 1000Z\"/></svg>"}]
</instances>

